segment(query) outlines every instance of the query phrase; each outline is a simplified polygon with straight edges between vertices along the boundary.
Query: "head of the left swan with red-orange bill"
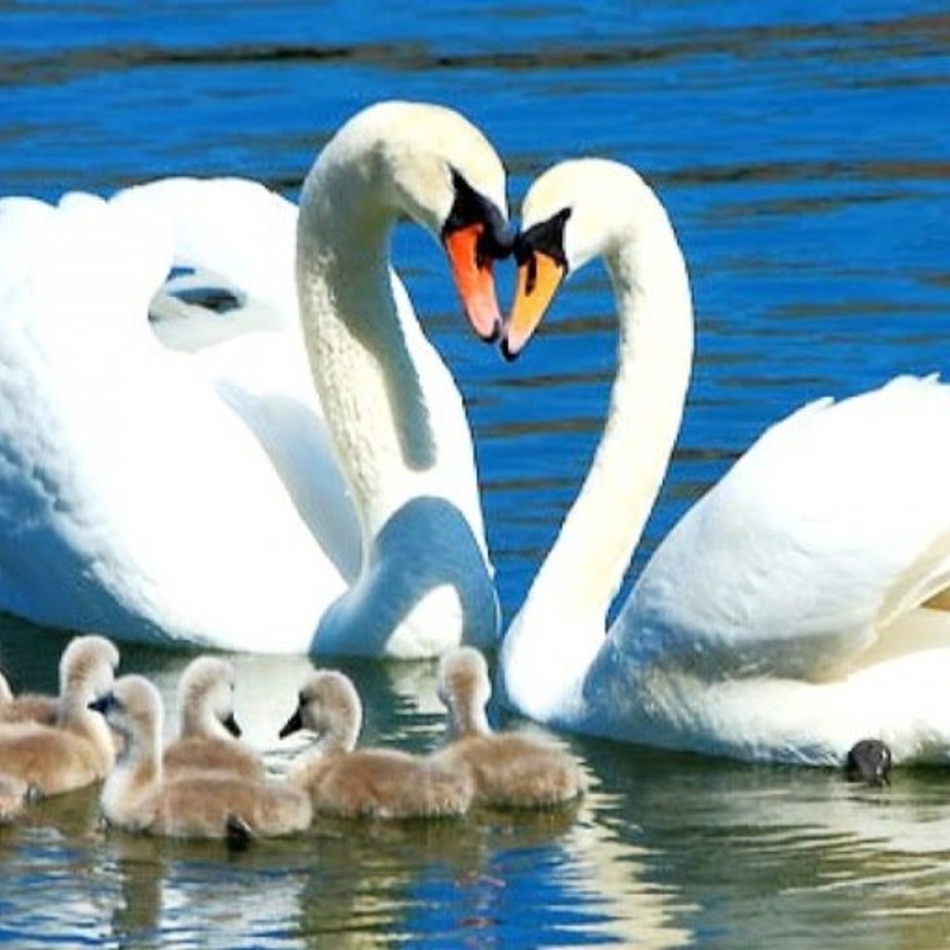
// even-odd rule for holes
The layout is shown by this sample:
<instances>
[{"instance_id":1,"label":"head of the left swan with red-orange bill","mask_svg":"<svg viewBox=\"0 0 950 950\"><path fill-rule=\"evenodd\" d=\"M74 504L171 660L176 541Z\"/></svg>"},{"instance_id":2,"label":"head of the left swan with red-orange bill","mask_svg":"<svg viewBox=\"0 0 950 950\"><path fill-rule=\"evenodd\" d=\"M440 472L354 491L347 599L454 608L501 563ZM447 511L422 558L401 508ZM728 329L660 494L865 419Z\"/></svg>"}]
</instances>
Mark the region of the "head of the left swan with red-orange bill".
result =
<instances>
[{"instance_id":1,"label":"head of the left swan with red-orange bill","mask_svg":"<svg viewBox=\"0 0 950 950\"><path fill-rule=\"evenodd\" d=\"M355 170L364 192L436 237L473 329L486 340L498 337L493 263L511 253L514 236L504 165L472 123L440 105L377 103L343 125L321 166Z\"/></svg>"}]
</instances>

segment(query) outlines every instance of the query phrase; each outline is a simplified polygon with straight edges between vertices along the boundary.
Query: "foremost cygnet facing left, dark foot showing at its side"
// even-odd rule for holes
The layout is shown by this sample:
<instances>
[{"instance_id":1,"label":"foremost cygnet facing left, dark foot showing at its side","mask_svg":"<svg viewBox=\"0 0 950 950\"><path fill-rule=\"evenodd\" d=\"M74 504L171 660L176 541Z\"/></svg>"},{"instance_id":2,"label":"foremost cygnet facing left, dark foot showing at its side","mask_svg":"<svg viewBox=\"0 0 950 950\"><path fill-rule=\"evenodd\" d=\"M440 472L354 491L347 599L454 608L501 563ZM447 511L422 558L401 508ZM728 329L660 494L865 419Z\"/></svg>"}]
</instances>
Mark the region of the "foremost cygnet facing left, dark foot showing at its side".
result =
<instances>
[{"instance_id":1,"label":"foremost cygnet facing left, dark foot showing at its side","mask_svg":"<svg viewBox=\"0 0 950 950\"><path fill-rule=\"evenodd\" d=\"M100 796L110 825L176 838L237 835L241 840L288 835L310 826L310 799L286 782L214 770L184 770L166 778L161 765L161 695L144 676L121 676L111 693L91 708L124 740Z\"/></svg>"}]
</instances>

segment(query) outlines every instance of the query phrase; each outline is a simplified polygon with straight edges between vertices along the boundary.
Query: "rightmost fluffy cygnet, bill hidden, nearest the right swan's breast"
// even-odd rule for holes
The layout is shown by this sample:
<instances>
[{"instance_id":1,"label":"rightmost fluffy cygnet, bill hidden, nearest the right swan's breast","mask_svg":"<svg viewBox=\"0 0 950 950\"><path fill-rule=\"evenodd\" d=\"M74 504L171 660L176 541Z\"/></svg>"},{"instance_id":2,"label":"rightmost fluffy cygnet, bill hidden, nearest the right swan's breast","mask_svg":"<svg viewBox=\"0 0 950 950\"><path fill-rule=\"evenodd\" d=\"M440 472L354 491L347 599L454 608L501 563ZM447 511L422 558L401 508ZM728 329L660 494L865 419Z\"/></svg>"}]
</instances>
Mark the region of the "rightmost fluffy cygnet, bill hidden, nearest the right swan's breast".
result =
<instances>
[{"instance_id":1,"label":"rightmost fluffy cygnet, bill hidden, nearest the right swan's breast","mask_svg":"<svg viewBox=\"0 0 950 950\"><path fill-rule=\"evenodd\" d=\"M491 680L478 650L457 647L443 656L438 689L448 710L449 742L435 759L449 769L471 770L475 804L550 807L583 793L580 763L560 745L526 732L491 730L485 714Z\"/></svg>"}]
</instances>

